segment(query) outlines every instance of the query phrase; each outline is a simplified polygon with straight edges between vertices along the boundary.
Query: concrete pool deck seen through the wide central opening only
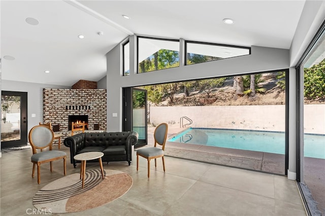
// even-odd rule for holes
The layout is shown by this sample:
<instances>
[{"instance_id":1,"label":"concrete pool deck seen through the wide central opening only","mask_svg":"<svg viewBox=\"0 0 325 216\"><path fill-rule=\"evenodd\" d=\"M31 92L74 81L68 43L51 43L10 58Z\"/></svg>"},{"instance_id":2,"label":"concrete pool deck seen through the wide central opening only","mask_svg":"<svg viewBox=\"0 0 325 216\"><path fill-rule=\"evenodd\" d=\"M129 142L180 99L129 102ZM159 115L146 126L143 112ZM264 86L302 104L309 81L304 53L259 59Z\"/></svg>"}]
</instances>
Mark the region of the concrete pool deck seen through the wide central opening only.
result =
<instances>
[{"instance_id":1,"label":"concrete pool deck seen through the wide central opening only","mask_svg":"<svg viewBox=\"0 0 325 216\"><path fill-rule=\"evenodd\" d=\"M154 143L154 128L148 127L148 147ZM184 129L187 128L169 126L168 138L172 138ZM285 170L285 157L282 154L167 142L165 155L279 175L284 175Z\"/></svg>"}]
</instances>

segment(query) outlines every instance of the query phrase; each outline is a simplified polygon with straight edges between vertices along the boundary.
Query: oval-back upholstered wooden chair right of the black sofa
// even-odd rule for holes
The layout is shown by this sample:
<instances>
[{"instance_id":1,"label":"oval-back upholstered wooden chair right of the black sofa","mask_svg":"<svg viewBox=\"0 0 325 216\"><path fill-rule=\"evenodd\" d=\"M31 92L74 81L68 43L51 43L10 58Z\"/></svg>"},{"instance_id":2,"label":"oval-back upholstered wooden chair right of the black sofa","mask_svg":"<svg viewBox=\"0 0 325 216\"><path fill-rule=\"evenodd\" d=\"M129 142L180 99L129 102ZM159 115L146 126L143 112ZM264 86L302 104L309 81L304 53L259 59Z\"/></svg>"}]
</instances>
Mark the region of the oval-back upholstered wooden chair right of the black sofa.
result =
<instances>
[{"instance_id":1,"label":"oval-back upholstered wooden chair right of the black sofa","mask_svg":"<svg viewBox=\"0 0 325 216\"><path fill-rule=\"evenodd\" d=\"M156 158L161 157L163 159L163 167L165 172L165 160L164 160L164 150L167 141L168 124L159 124L153 133L154 137L154 147L141 148L137 150L137 171L139 169L139 156L144 157L148 160L148 178L150 177L150 160L154 159L154 165L157 167ZM159 147L157 147L157 144Z\"/></svg>"}]
</instances>

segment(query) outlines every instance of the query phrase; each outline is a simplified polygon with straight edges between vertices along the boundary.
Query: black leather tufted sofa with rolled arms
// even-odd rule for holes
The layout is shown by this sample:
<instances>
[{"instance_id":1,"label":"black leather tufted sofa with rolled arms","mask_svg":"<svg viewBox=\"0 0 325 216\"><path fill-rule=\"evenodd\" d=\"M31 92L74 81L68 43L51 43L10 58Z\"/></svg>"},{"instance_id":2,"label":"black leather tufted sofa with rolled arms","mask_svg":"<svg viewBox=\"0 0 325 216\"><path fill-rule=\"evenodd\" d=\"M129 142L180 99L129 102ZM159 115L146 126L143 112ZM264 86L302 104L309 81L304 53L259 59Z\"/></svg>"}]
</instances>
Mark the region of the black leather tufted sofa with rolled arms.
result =
<instances>
[{"instance_id":1,"label":"black leather tufted sofa with rolled arms","mask_svg":"<svg viewBox=\"0 0 325 216\"><path fill-rule=\"evenodd\" d=\"M104 133L82 133L64 139L64 145L70 148L70 159L74 167L77 161L76 154L99 151L103 152L102 161L127 161L128 165L132 161L132 146L138 142L138 133L131 132L104 132ZM89 160L87 162L98 162Z\"/></svg>"}]
</instances>

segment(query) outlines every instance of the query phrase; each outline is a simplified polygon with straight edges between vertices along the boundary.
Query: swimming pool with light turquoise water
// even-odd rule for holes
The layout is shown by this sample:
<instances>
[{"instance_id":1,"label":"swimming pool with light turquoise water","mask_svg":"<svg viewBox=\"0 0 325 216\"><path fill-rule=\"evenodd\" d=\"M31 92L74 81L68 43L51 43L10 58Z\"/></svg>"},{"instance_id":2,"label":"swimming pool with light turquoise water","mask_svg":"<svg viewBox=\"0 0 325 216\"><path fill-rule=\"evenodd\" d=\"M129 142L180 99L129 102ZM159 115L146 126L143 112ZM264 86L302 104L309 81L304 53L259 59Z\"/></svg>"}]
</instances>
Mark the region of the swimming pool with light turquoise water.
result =
<instances>
[{"instance_id":1,"label":"swimming pool with light turquoise water","mask_svg":"<svg viewBox=\"0 0 325 216\"><path fill-rule=\"evenodd\" d=\"M285 134L283 132L190 127L170 139L169 142L261 151L276 154L285 153ZM305 157L325 159L325 136L305 134L304 154Z\"/></svg>"}]
</instances>

